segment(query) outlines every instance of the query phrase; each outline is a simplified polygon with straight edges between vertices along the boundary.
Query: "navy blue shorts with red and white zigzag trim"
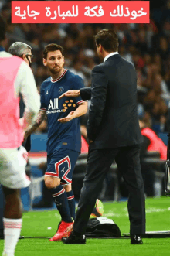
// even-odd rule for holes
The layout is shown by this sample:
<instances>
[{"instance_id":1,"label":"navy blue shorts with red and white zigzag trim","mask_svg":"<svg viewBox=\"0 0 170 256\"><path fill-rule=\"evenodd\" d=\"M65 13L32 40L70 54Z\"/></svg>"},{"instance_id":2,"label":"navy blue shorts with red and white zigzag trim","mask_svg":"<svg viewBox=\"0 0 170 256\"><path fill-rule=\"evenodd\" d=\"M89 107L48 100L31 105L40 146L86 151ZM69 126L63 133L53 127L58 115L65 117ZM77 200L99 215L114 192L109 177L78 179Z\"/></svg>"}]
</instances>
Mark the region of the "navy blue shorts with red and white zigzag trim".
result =
<instances>
[{"instance_id":1,"label":"navy blue shorts with red and white zigzag trim","mask_svg":"<svg viewBox=\"0 0 170 256\"><path fill-rule=\"evenodd\" d=\"M47 169L45 176L61 179L61 184L72 183L73 169L79 157L79 152L60 148L52 155L47 155Z\"/></svg>"}]
</instances>

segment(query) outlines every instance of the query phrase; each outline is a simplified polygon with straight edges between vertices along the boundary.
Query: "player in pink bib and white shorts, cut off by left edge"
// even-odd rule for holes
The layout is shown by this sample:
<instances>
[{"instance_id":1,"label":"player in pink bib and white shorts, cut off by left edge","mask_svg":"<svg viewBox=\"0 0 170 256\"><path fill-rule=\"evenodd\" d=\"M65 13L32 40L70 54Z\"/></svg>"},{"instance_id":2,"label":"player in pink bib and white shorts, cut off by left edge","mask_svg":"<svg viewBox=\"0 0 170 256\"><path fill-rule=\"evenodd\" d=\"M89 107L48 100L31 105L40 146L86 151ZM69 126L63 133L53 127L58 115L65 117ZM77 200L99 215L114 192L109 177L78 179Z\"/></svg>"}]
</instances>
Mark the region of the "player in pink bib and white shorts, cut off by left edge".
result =
<instances>
[{"instance_id":1,"label":"player in pink bib and white shorts, cut off by left edge","mask_svg":"<svg viewBox=\"0 0 170 256\"><path fill-rule=\"evenodd\" d=\"M19 190L29 186L26 179L26 149L23 134L39 112L40 100L32 70L17 56L6 53L5 22L0 16L0 183L5 195L3 256L14 256L22 227L22 203ZM19 93L26 104L24 117L19 121Z\"/></svg>"}]
</instances>

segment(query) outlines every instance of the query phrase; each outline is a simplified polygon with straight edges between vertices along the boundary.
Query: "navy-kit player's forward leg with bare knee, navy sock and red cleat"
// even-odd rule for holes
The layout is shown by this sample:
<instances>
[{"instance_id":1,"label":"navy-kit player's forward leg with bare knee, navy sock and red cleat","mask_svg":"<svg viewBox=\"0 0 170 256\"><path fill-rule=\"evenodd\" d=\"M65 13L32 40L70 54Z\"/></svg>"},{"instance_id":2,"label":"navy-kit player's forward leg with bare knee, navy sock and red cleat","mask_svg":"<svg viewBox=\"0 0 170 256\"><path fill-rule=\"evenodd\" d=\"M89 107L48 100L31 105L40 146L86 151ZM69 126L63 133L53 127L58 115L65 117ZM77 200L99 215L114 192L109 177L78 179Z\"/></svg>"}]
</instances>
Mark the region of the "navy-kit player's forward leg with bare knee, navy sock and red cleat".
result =
<instances>
[{"instance_id":1,"label":"navy-kit player's forward leg with bare knee, navy sock and red cleat","mask_svg":"<svg viewBox=\"0 0 170 256\"><path fill-rule=\"evenodd\" d=\"M49 241L61 241L61 238L68 236L73 228L73 220L70 216L70 208L67 201L66 191L60 184L61 179L52 176L45 176L44 180L46 187L50 189L50 192L52 193L56 207L62 218L57 233Z\"/></svg>"}]
</instances>

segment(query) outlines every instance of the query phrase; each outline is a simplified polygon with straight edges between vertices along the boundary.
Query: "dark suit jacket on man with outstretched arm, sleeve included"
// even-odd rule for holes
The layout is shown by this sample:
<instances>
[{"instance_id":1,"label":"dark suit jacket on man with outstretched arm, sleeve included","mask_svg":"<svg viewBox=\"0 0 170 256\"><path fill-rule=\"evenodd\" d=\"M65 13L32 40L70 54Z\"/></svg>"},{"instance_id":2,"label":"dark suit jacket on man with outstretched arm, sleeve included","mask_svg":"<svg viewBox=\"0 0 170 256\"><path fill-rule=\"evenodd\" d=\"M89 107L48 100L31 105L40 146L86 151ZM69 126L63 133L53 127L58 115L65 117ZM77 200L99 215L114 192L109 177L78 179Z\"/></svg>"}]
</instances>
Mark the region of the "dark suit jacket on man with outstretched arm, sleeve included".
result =
<instances>
[{"instance_id":1,"label":"dark suit jacket on man with outstretched arm, sleeve included","mask_svg":"<svg viewBox=\"0 0 170 256\"><path fill-rule=\"evenodd\" d=\"M117 148L143 141L137 113L137 75L133 63L119 54L92 70L91 87L80 90L91 98L87 135L95 148Z\"/></svg>"}]
</instances>

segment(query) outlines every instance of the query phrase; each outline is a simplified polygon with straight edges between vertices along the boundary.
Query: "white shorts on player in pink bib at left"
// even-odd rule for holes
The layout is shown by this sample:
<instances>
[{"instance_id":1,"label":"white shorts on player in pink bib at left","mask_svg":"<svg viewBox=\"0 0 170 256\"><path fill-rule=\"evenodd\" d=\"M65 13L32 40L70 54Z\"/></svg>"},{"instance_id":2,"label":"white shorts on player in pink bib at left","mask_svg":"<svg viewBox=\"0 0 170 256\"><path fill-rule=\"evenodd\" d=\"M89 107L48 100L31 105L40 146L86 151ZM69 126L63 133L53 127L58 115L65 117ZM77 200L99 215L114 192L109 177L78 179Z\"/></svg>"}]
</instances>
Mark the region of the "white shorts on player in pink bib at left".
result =
<instances>
[{"instance_id":1,"label":"white shorts on player in pink bib at left","mask_svg":"<svg viewBox=\"0 0 170 256\"><path fill-rule=\"evenodd\" d=\"M0 183L9 189L29 186L26 176L28 152L26 148L0 148Z\"/></svg>"}]
</instances>

